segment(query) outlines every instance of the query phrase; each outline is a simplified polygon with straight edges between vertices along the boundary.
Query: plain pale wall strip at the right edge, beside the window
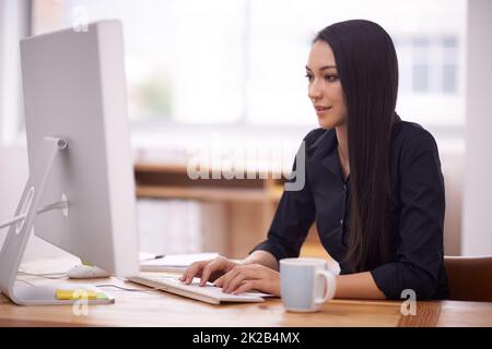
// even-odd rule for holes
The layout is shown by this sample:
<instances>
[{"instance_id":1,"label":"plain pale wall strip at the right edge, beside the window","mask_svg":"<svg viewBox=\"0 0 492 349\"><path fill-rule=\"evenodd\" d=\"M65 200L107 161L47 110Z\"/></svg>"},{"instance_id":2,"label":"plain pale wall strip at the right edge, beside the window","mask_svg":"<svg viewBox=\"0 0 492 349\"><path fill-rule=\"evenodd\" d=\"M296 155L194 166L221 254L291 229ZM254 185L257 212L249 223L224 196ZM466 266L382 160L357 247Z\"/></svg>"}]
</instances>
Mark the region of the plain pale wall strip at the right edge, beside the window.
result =
<instances>
[{"instance_id":1,"label":"plain pale wall strip at the right edge, beside the window","mask_svg":"<svg viewBox=\"0 0 492 349\"><path fill-rule=\"evenodd\" d=\"M492 1L468 1L462 254L492 254Z\"/></svg>"}]
</instances>

